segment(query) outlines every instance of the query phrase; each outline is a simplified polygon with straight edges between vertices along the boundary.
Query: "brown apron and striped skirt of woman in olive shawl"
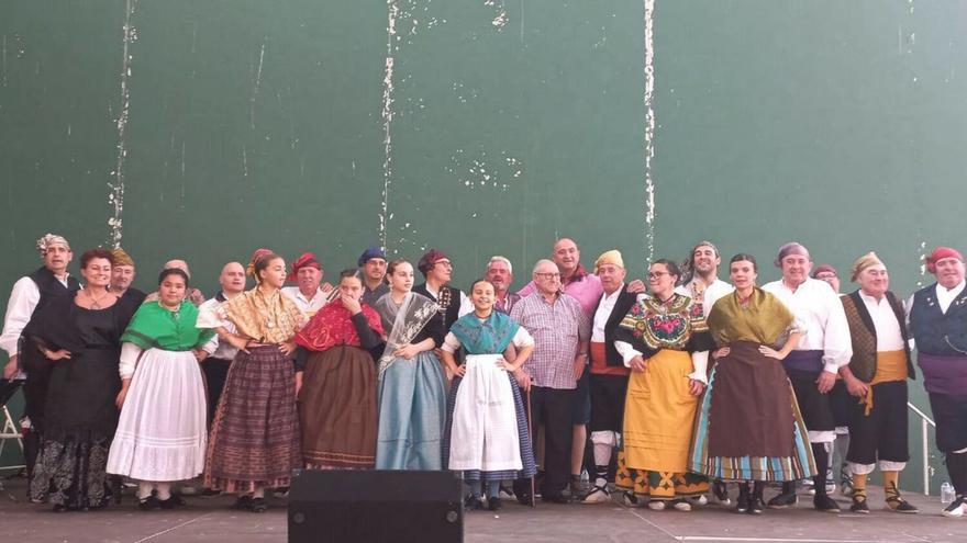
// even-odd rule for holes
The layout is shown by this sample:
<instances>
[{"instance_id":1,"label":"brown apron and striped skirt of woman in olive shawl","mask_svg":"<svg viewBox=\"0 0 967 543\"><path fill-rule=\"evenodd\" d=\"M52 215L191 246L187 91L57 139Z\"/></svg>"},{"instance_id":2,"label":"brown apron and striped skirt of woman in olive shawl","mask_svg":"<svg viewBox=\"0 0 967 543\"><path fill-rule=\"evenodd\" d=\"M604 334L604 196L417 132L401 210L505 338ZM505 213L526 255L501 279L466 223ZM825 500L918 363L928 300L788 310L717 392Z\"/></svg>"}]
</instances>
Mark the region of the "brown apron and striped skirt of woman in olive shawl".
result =
<instances>
[{"instance_id":1,"label":"brown apron and striped skirt of woman in olive shawl","mask_svg":"<svg viewBox=\"0 0 967 543\"><path fill-rule=\"evenodd\" d=\"M816 474L809 434L781 362L737 341L699 405L689 471L725 480L798 480Z\"/></svg>"}]
</instances>

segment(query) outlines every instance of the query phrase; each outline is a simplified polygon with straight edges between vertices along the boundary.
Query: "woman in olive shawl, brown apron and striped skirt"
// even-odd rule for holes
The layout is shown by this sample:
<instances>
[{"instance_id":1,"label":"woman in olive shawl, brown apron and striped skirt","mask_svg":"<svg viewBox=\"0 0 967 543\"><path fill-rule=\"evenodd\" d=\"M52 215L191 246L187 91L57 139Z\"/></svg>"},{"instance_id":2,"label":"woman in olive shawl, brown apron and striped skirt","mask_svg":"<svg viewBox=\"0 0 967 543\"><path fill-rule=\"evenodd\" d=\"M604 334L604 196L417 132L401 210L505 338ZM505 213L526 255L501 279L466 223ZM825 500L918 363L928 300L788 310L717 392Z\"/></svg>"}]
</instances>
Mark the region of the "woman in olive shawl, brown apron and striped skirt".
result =
<instances>
[{"instance_id":1,"label":"woman in olive shawl, brown apron and striped skirt","mask_svg":"<svg viewBox=\"0 0 967 543\"><path fill-rule=\"evenodd\" d=\"M729 272L735 291L709 313L719 349L699 408L689 470L740 482L736 511L760 513L765 482L816 473L781 363L802 333L782 302L756 286L758 268L751 254L732 257Z\"/></svg>"}]
</instances>

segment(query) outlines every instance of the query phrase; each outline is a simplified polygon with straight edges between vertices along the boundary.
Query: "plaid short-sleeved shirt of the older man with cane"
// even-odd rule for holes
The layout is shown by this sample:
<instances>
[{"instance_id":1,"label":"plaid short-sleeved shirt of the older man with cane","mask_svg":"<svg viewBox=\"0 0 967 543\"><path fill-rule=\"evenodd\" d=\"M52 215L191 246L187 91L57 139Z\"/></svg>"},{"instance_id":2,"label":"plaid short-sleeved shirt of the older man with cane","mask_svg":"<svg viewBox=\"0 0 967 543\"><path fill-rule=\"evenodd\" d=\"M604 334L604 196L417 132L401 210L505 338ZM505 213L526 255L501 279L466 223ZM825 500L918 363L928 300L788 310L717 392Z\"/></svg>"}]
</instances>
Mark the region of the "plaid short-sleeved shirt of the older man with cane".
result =
<instances>
[{"instance_id":1,"label":"plaid short-sleeved shirt of the older man with cane","mask_svg":"<svg viewBox=\"0 0 967 543\"><path fill-rule=\"evenodd\" d=\"M591 337L591 321L573 296L559 294L554 303L535 293L524 296L510 312L534 337L534 352L524 363L524 372L535 386L573 389L575 355L578 342Z\"/></svg>"}]
</instances>

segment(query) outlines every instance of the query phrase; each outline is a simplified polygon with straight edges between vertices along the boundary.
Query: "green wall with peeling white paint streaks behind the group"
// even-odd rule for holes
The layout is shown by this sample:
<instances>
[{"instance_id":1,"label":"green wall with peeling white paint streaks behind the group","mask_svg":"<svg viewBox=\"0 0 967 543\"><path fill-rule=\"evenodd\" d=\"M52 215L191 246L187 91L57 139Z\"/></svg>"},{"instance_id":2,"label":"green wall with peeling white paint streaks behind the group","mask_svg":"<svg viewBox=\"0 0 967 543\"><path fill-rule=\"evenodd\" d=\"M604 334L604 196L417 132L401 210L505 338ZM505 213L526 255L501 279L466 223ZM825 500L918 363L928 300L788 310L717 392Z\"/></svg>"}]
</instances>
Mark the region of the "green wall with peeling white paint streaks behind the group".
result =
<instances>
[{"instance_id":1,"label":"green wall with peeling white paint streaks behind the group","mask_svg":"<svg viewBox=\"0 0 967 543\"><path fill-rule=\"evenodd\" d=\"M146 290L184 256L207 292L259 246L314 250L330 276L371 242L435 246L460 284L502 253L523 282L568 235L635 275L702 238L759 256L763 281L790 239L844 274L874 249L905 295L930 248L964 248L965 18L954 0L9 0L0 285L46 231L78 250L120 234Z\"/></svg>"}]
</instances>

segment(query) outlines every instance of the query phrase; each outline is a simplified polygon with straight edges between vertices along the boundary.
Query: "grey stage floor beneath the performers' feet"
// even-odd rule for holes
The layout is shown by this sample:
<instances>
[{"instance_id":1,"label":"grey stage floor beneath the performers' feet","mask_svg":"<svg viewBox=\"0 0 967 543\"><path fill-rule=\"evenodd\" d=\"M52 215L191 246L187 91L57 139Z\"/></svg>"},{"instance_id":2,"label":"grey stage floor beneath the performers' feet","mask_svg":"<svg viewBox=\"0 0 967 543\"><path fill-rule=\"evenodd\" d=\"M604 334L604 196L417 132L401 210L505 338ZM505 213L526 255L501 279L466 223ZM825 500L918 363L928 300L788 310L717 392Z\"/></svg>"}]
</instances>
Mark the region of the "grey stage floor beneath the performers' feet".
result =
<instances>
[{"instance_id":1,"label":"grey stage floor beneath the performers' feet","mask_svg":"<svg viewBox=\"0 0 967 543\"><path fill-rule=\"evenodd\" d=\"M54 513L49 506L24 502L25 480L4 480L0 490L0 541L32 542L126 542L192 543L232 541L286 541L285 499L271 499L264 514L227 509L227 497L188 497L177 511L142 512L125 497L121 506L103 511ZM735 494L733 491L733 494ZM767 496L769 494L767 493ZM836 496L844 509L848 500ZM870 488L871 514L821 513L812 510L808 495L789 510L767 510L753 517L731 509L704 506L691 512L651 511L618 502L583 506L543 505L536 509L508 504L494 514L470 511L465 522L465 541L493 542L782 542L782 543L923 543L967 541L967 518L941 517L937 498L905 495L921 509L919 514L899 514L879 509L882 491ZM376 514L376 512L374 512ZM377 518L374 518L378 521ZM363 543L363 542L360 542ZM405 542L401 542L405 543Z\"/></svg>"}]
</instances>

